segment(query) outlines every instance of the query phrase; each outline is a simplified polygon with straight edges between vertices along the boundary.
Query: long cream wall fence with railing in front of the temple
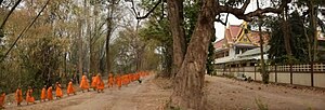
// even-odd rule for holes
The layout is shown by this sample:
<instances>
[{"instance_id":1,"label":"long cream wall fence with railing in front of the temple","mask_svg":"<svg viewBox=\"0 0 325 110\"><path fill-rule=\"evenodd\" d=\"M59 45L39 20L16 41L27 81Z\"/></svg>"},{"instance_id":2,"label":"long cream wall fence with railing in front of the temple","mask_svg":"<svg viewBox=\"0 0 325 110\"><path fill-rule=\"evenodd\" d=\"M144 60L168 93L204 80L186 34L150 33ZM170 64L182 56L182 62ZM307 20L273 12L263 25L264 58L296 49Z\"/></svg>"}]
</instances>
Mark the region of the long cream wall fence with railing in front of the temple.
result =
<instances>
[{"instance_id":1,"label":"long cream wall fence with railing in front of the temple","mask_svg":"<svg viewBox=\"0 0 325 110\"><path fill-rule=\"evenodd\" d=\"M304 65L268 66L270 82L288 83L306 86L325 87L325 64L311 63ZM245 74L255 81L262 81L259 66L217 67L217 75Z\"/></svg>"}]
</instances>

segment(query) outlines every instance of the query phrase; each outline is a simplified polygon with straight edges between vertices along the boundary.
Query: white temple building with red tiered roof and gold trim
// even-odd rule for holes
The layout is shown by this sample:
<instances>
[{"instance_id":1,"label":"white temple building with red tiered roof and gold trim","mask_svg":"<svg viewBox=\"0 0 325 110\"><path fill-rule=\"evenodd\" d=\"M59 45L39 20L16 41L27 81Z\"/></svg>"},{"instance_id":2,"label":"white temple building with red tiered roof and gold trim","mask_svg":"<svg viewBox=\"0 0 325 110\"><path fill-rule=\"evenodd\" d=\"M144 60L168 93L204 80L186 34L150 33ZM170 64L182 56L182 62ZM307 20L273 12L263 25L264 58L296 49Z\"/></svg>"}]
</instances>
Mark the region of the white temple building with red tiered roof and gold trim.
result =
<instances>
[{"instance_id":1,"label":"white temple building with red tiered roof and gold trim","mask_svg":"<svg viewBox=\"0 0 325 110\"><path fill-rule=\"evenodd\" d=\"M262 33L264 44L269 41L269 36ZM224 38L214 43L214 64L221 65L239 60L260 59L260 37L258 31L247 28L247 23L240 25L229 25L225 27ZM266 46L266 52L270 46ZM265 55L265 58L268 56Z\"/></svg>"}]
</instances>

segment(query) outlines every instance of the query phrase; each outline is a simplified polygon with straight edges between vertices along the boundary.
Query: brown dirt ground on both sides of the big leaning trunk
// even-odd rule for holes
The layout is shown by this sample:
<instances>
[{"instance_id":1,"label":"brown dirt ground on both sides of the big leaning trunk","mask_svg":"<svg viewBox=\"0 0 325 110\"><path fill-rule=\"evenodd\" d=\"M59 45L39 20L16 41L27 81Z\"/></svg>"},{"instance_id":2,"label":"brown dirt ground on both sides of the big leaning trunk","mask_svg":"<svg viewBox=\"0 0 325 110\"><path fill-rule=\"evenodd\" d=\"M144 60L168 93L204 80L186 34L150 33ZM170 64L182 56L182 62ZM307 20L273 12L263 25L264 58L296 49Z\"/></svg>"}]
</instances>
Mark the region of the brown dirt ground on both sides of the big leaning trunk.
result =
<instances>
[{"instance_id":1,"label":"brown dirt ground on both sides of the big leaning trunk","mask_svg":"<svg viewBox=\"0 0 325 110\"><path fill-rule=\"evenodd\" d=\"M8 110L161 110L172 90L171 81L150 75L121 90L87 92L30 106L10 106ZM274 84L244 82L206 75L205 94L209 110L325 110L325 92ZM257 101L259 100L259 101Z\"/></svg>"}]
</instances>

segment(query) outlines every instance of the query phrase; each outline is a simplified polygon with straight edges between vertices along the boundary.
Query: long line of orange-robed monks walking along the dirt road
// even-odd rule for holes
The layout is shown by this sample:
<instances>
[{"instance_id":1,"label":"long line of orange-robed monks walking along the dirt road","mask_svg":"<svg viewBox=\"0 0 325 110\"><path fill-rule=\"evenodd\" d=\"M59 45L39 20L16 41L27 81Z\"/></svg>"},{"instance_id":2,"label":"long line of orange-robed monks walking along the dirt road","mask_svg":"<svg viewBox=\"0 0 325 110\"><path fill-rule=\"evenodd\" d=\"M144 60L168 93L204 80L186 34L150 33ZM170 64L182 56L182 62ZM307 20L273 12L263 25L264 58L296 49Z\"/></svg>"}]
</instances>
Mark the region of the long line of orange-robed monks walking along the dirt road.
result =
<instances>
[{"instance_id":1,"label":"long line of orange-robed monks walking along the dirt road","mask_svg":"<svg viewBox=\"0 0 325 110\"><path fill-rule=\"evenodd\" d=\"M128 84L133 81L139 81L139 83L141 83L140 78L146 77L148 74L150 74L150 72L147 72L147 71L142 71L142 72L138 72L138 73L129 73L129 74L123 74L123 75L120 75L120 74L113 75L113 73L109 73L108 81L107 81L107 84L108 84L107 87L109 88L109 87L113 87L114 85L117 85L118 90L120 90L120 87L122 85L128 86ZM96 75L93 75L91 79L91 82L89 81L89 79L86 75L82 75L79 87L81 88L82 93L84 91L89 92L90 88L93 88L98 93L103 93L105 83L100 73ZM67 93L67 96L72 95L72 94L76 95L76 90L73 84L73 80L69 81L66 93ZM55 97L56 97L56 99L63 97L62 86L61 86L61 83L58 83L58 82L55 83ZM4 98L5 98L5 93L2 92L1 96L0 96L0 109L3 108ZM16 100L17 106L21 106L21 104L23 101L23 93L22 93L21 87L18 87L15 92L15 100ZM28 86L28 90L26 92L25 100L26 100L27 105L35 104L35 98L32 96L32 88L30 86ZM41 90L40 101L46 101L46 100L53 100L52 86L47 87L44 85L44 87Z\"/></svg>"}]
</instances>

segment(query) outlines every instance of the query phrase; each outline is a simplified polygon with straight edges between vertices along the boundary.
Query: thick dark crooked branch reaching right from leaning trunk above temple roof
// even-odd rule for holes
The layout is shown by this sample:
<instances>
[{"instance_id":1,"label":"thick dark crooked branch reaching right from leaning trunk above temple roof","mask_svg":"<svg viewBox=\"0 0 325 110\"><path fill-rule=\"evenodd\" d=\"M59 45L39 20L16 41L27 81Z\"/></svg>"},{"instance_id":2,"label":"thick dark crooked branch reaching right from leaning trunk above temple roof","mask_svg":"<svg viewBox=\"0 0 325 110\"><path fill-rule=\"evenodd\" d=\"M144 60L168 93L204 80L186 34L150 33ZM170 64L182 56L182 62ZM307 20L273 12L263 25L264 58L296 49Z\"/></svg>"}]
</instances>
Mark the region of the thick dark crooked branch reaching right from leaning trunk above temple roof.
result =
<instances>
[{"instance_id":1,"label":"thick dark crooked branch reaching right from leaning trunk above temple roof","mask_svg":"<svg viewBox=\"0 0 325 110\"><path fill-rule=\"evenodd\" d=\"M243 5L242 9L219 5L219 8L217 6L218 8L217 11L219 11L219 13L231 13L239 19L251 22L253 16L262 16L263 13L282 13L284 8L289 2L291 2L291 0L282 0L282 4L277 9L275 8L257 9L256 11L247 14L245 14L245 10L246 10L245 4ZM245 3L247 3L247 1Z\"/></svg>"}]
</instances>

